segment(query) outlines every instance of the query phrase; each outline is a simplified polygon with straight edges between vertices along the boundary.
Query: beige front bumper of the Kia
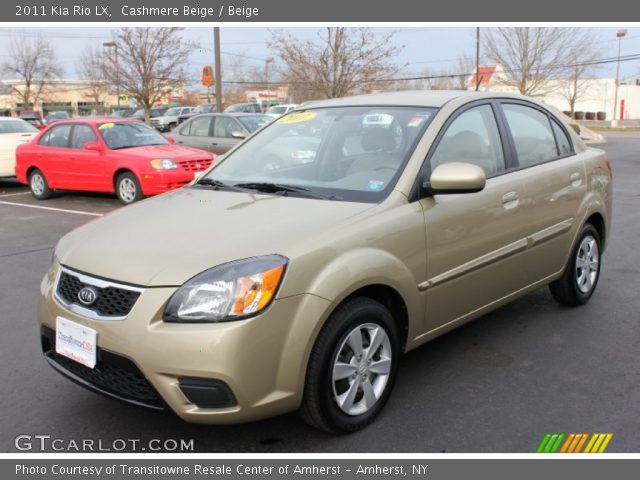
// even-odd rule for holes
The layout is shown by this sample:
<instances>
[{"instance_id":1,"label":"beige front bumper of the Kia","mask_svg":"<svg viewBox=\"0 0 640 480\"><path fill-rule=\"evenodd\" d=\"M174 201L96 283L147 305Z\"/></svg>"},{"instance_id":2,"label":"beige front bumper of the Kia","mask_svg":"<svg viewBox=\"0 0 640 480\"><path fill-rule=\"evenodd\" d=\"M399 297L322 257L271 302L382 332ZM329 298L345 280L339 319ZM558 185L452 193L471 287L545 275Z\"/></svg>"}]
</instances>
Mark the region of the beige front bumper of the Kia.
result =
<instances>
[{"instance_id":1,"label":"beige front bumper of the Kia","mask_svg":"<svg viewBox=\"0 0 640 480\"><path fill-rule=\"evenodd\" d=\"M162 320L175 288L148 288L124 320L91 320L66 310L54 299L58 269L54 265L42 280L38 308L42 331L55 330L58 316L97 330L99 351L129 360L133 365L129 369L138 369L157 393L158 402L151 403L158 408L166 405L190 422L223 424L270 417L299 407L310 348L329 314L331 303L327 300L302 294L277 299L263 314L248 320L178 324ZM43 348L46 351L44 344ZM84 373L88 376L76 376L91 379L93 373ZM145 402L130 401L127 391L122 394L114 392L112 386L88 383L83 385L153 408ZM228 388L233 402L207 406L197 395L203 385Z\"/></svg>"}]
</instances>

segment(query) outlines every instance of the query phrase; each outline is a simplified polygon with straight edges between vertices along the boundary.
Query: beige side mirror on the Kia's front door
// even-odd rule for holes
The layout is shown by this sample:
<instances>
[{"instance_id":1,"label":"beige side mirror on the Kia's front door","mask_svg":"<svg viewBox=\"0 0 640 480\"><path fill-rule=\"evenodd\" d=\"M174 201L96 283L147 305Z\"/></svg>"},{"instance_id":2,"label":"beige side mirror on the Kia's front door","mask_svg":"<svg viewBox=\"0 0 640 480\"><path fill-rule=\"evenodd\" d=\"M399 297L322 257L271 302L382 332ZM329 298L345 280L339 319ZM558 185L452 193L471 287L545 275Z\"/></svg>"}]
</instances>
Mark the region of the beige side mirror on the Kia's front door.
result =
<instances>
[{"instance_id":1,"label":"beige side mirror on the Kia's front door","mask_svg":"<svg viewBox=\"0 0 640 480\"><path fill-rule=\"evenodd\" d=\"M430 194L474 193L484 189L487 177L477 165L443 163L438 165L424 186Z\"/></svg>"}]
</instances>

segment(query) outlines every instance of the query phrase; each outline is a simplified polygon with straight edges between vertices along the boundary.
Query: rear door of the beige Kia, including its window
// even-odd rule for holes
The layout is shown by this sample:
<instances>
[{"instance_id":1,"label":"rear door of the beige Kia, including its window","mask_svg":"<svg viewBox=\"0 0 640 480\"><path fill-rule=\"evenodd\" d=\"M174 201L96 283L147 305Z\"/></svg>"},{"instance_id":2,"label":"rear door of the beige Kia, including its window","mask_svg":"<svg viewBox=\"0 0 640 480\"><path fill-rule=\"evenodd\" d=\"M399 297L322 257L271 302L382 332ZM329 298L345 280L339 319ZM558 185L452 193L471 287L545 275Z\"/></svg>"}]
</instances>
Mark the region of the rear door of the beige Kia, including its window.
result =
<instances>
[{"instance_id":1,"label":"rear door of the beige Kia, including its window","mask_svg":"<svg viewBox=\"0 0 640 480\"><path fill-rule=\"evenodd\" d=\"M526 276L532 284L564 268L580 202L587 191L581 155L565 127L541 107L503 100L518 168L526 173L523 209L529 243Z\"/></svg>"}]
</instances>

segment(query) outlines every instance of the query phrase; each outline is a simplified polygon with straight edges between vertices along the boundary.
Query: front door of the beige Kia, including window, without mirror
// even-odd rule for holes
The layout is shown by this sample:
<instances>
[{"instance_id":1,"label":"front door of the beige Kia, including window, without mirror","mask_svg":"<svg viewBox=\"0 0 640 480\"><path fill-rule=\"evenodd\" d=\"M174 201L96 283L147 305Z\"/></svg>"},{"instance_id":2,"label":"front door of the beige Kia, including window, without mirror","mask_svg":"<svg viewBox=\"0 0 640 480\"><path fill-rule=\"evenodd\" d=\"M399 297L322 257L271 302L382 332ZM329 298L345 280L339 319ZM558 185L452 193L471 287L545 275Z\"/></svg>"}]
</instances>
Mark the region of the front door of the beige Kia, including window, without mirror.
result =
<instances>
[{"instance_id":1,"label":"front door of the beige Kia, including window, without mirror","mask_svg":"<svg viewBox=\"0 0 640 480\"><path fill-rule=\"evenodd\" d=\"M450 162L479 166L487 176L477 193L432 195L421 200L427 238L425 330L464 320L522 288L524 180L488 99L459 109L429 153L430 172Z\"/></svg>"}]
</instances>

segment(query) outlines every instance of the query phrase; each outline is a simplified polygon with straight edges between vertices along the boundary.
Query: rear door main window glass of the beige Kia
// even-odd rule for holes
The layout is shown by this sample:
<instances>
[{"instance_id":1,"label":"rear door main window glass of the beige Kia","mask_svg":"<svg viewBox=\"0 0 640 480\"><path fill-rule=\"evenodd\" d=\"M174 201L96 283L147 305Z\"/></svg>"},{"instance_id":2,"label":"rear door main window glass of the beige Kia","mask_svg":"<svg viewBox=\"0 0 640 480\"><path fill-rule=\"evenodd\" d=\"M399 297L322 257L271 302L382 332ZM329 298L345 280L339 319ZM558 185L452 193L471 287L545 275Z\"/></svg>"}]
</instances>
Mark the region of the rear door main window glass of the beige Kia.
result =
<instances>
[{"instance_id":1,"label":"rear door main window glass of the beige Kia","mask_svg":"<svg viewBox=\"0 0 640 480\"><path fill-rule=\"evenodd\" d=\"M549 117L524 105L503 104L521 167L530 167L558 157L558 147Z\"/></svg>"}]
</instances>

